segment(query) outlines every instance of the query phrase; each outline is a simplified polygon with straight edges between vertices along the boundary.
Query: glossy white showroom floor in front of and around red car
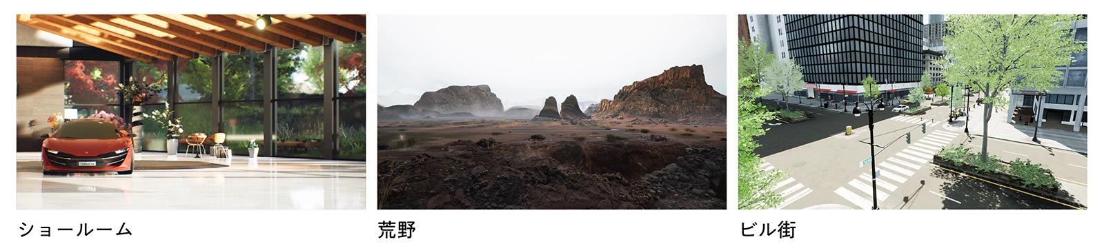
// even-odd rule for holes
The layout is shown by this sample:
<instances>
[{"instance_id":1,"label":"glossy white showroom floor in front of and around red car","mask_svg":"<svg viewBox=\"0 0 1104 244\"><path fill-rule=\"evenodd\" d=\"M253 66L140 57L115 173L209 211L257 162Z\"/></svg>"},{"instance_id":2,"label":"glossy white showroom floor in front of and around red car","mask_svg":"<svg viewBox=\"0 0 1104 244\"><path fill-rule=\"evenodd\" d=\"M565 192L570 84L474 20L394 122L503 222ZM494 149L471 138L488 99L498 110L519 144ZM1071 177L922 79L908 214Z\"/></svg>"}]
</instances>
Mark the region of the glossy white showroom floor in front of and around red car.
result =
<instances>
[{"instance_id":1,"label":"glossy white showroom floor in front of and around red car","mask_svg":"<svg viewBox=\"0 0 1104 244\"><path fill-rule=\"evenodd\" d=\"M17 152L17 209L365 209L365 163L232 160L142 152L134 174L43 176L41 152ZM38 163L38 166L35 166Z\"/></svg>"}]
</instances>

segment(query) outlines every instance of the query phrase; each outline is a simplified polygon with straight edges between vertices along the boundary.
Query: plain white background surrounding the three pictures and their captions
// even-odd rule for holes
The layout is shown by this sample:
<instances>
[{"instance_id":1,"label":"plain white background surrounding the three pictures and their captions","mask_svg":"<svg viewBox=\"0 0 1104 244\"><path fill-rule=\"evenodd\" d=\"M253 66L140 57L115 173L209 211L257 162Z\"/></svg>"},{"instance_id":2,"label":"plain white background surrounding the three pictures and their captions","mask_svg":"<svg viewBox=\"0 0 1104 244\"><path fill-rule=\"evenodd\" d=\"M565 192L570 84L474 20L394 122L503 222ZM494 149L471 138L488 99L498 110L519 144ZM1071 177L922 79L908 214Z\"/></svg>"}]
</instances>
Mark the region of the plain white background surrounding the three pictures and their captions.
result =
<instances>
[{"instance_id":1,"label":"plain white background surrounding the three pictures and their captions","mask_svg":"<svg viewBox=\"0 0 1104 244\"><path fill-rule=\"evenodd\" d=\"M327 3L329 6L322 6ZM368 72L376 74L375 14L729 14L730 84L736 78L736 15L739 13L1087 13L1100 7L1090 1L9 1L3 7L14 33L17 13L359 13L368 14ZM1092 32L1090 40L1095 35ZM0 125L14 123L14 38L0 40ZM1090 81L1098 75L1091 68ZM376 77L369 75L370 84ZM1091 82L1092 83L1092 82ZM376 94L369 86L368 94ZM1090 85L1092 94L1100 88ZM730 94L730 95L734 95ZM375 103L369 96L370 104ZM735 100L729 99L730 125L736 121ZM375 118L374 109L369 109ZM368 121L375 128L374 120ZM13 127L0 135L14 135ZM734 129L729 130L734 138ZM371 135L369 131L369 141ZM1091 130L1091 138L1100 138ZM363 211L19 211L15 210L14 140L0 141L0 243L1097 243L1100 210L1050 211L379 211L375 206L375 152L369 150L369 206ZM369 145L369 148L372 148ZM1096 144L1090 151L1096 152ZM729 145L735 157L735 145ZM734 166L735 158L729 160ZM1092 160L1090 160L1092 162ZM729 195L736 195L735 168ZM1090 177L1098 174L1090 167ZM1090 197L1097 195L1095 188ZM414 238L379 240L380 221L416 221ZM741 223L796 222L796 237L778 240L741 236ZM99 235L19 237L21 223L39 225L117 225L127 223L131 236ZM1100 225L1096 225L1100 226ZM757 233L757 232L756 232Z\"/></svg>"}]
</instances>

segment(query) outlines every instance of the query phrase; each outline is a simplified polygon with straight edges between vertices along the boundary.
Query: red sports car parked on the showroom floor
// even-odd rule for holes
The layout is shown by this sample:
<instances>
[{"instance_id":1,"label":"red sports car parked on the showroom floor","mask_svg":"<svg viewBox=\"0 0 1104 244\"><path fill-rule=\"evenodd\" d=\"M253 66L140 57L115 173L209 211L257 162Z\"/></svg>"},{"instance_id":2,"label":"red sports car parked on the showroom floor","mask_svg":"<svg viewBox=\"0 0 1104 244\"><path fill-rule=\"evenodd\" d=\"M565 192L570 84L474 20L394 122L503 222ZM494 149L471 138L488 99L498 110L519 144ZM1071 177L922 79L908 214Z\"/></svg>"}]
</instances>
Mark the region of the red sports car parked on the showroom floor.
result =
<instances>
[{"instance_id":1,"label":"red sports car parked on the showroom floor","mask_svg":"<svg viewBox=\"0 0 1104 244\"><path fill-rule=\"evenodd\" d=\"M106 119L65 123L42 141L42 173L134 172L134 135Z\"/></svg>"}]
</instances>

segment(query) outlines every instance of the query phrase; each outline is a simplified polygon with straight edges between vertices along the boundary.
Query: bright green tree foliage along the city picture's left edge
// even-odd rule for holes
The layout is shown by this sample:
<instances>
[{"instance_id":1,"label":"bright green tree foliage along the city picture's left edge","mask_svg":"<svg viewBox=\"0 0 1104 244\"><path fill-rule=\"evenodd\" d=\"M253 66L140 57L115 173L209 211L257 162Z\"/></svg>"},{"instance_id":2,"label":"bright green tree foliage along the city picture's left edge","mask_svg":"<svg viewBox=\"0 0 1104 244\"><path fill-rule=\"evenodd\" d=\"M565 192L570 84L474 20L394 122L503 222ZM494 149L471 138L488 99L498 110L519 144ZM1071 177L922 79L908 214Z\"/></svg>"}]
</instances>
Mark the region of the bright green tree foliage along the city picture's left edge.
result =
<instances>
[{"instance_id":1,"label":"bright green tree foliage along the city picture's left edge","mask_svg":"<svg viewBox=\"0 0 1104 244\"><path fill-rule=\"evenodd\" d=\"M782 195L775 192L774 188L785 178L785 173L778 170L764 170L760 168L763 159L755 153L755 148L760 144L755 137L766 134L763 124L774 117L763 105L755 102L766 94L760 88L758 82L752 76L740 77L740 94L737 97L739 109L739 132L736 147L739 148L739 209L761 210L777 208L782 203Z\"/></svg>"}]
</instances>

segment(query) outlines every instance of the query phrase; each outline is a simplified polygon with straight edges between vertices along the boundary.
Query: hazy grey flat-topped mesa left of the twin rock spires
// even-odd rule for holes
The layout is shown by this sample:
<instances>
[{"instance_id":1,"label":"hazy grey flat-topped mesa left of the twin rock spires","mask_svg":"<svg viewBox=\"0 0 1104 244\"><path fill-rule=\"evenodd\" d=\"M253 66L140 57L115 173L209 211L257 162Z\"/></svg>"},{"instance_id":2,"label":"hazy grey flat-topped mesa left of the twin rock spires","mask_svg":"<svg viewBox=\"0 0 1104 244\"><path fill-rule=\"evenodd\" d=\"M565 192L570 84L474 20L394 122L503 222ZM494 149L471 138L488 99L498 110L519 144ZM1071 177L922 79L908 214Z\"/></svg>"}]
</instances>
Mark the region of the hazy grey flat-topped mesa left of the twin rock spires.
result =
<instances>
[{"instance_id":1,"label":"hazy grey flat-topped mesa left of the twin rock spires","mask_svg":"<svg viewBox=\"0 0 1104 244\"><path fill-rule=\"evenodd\" d=\"M502 115L502 100L490 92L488 85L449 86L437 92L426 92L414 103L414 107L442 114L466 112L476 116Z\"/></svg>"}]
</instances>

